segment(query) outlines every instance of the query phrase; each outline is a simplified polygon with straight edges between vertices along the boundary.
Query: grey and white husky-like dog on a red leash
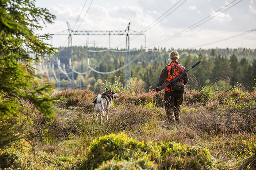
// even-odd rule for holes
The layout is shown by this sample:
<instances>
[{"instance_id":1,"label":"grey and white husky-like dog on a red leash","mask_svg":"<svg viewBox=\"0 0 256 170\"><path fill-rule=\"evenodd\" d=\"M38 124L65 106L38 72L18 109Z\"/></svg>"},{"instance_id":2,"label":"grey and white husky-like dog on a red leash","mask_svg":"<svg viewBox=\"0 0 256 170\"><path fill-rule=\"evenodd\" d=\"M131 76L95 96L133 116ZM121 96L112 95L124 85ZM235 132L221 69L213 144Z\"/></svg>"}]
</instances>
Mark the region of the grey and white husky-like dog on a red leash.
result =
<instances>
[{"instance_id":1,"label":"grey and white husky-like dog on a red leash","mask_svg":"<svg viewBox=\"0 0 256 170\"><path fill-rule=\"evenodd\" d=\"M116 94L112 88L106 91L103 94L99 94L96 99L93 100L95 113L97 112L96 122L98 122L99 113L101 113L101 119L104 118L107 111L107 121L108 121L108 109L110 108L110 104L113 98L116 98L118 94Z\"/></svg>"}]
</instances>

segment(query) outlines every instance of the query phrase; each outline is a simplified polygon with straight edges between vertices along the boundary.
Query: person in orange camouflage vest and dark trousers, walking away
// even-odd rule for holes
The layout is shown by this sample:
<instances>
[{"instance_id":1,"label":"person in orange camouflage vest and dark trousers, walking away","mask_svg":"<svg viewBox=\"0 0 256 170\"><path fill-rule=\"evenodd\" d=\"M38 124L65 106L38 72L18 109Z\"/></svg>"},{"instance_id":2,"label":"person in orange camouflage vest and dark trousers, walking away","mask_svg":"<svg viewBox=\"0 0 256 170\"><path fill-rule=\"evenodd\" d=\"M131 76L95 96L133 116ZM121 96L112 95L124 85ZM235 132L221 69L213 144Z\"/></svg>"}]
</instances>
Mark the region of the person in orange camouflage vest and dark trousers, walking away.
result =
<instances>
[{"instance_id":1,"label":"person in orange camouflage vest and dark trousers, walking away","mask_svg":"<svg viewBox=\"0 0 256 170\"><path fill-rule=\"evenodd\" d=\"M167 83L172 81L174 78L178 77L180 74L186 71L186 68L178 62L180 56L177 51L172 51L169 56L171 63L166 65L163 71L161 72L161 75L157 83L157 87L161 86L164 82ZM188 73L186 73L184 77L181 78L178 82L179 85L185 85L188 83L188 81ZM156 90L156 92L158 93L159 91ZM185 88L184 90L175 90L175 88L172 88L171 85L165 88L165 111L168 120L170 120L172 123L180 121L180 105L183 102L184 93Z\"/></svg>"}]
</instances>

